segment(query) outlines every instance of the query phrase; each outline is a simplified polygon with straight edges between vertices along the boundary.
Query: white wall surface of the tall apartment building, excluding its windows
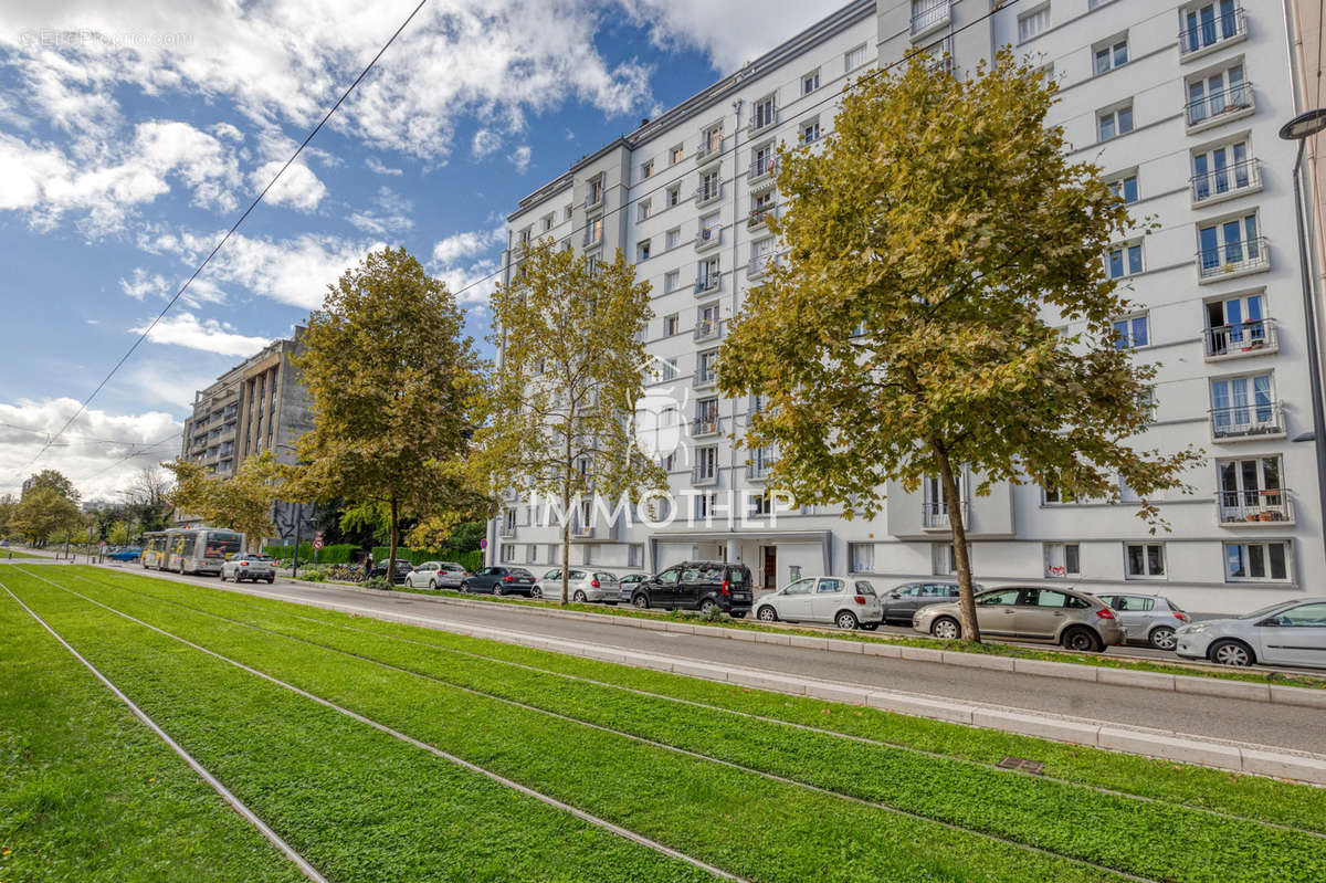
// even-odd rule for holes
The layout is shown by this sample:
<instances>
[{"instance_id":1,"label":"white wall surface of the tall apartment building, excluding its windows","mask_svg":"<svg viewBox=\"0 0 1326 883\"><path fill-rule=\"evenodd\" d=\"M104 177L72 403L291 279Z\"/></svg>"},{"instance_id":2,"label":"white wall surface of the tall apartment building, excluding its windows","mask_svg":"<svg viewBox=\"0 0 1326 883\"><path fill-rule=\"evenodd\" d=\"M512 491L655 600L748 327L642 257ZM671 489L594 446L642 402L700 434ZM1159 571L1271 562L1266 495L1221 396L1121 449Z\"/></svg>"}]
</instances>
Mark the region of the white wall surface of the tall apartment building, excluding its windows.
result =
<instances>
[{"instance_id":1,"label":"white wall surface of the tall apartment building, excluding its windows","mask_svg":"<svg viewBox=\"0 0 1326 883\"><path fill-rule=\"evenodd\" d=\"M1049 27L1018 42L1018 16L1042 5L1050 8ZM1151 216L1159 224L1155 232L1139 235L1143 272L1128 280L1132 300L1148 317L1148 343L1138 350L1138 357L1158 366L1156 420L1138 444L1162 451L1193 444L1205 449L1209 461L1188 475L1193 495L1171 493L1160 501L1171 530L1155 536L1136 517L1135 506L1090 501L1046 504L1034 485L998 485L991 497L968 500L977 579L985 585L1058 581L1048 575L1045 544L1075 544L1081 573L1062 579L1087 590L1156 591L1201 613L1245 610L1311 591L1322 585L1326 562L1289 178L1294 145L1276 137L1278 126L1296 111L1285 24L1274 4L1248 3L1242 13L1245 36L1195 60L1191 56L1200 53L1180 57L1181 12L1197 5L1201 4L1114 0L1090 9L1089 0L1052 0L1016 4L988 16L989 4L984 0L956 0L949 4L947 20L922 34L914 33L907 4L888 4L878 11L871 3L845 7L521 200L509 220L512 245L518 245L522 231L530 231L533 236L570 237L573 245L589 253L602 249L607 260L613 249L622 248L635 260L639 276L652 285L655 318L646 331L648 351L660 370L666 370L663 362L675 359L676 365L674 377L660 377L647 392L675 398L682 419L691 422L697 399L716 395L712 384L697 378L700 354L720 343L727 321L740 310L744 293L754 284L747 272L753 245L766 236L762 228L752 229L747 223L752 196L765 186L752 182L752 148L768 141L798 141L804 126L814 121L821 137L827 134L845 81L866 69L846 70L845 57L858 46L866 46L870 64L890 64L914 45L931 45L947 37L943 45L952 50L953 64L963 73L973 70L996 46L1014 44L1018 53L1053 65L1061 101L1050 122L1063 126L1074 159L1095 162L1107 175L1135 174L1135 215ZM1105 41L1114 45L1122 40L1127 42L1127 64L1097 73L1095 49ZM1207 80L1235 64L1242 65L1245 81L1253 84L1254 110L1231 111L1215 122L1189 126L1184 113L1188 81L1199 74ZM812 72L819 74L818 88L806 93L802 84ZM748 130L752 109L768 95L776 99L776 123L752 134ZM1126 102L1131 102L1132 131L1101 142L1098 113ZM701 134L716 125L723 127L716 159L712 154L697 156ZM1249 187L1227 200L1193 204L1189 184L1193 151L1233 141L1246 141L1258 160L1260 190ZM682 152L675 159L676 146ZM652 163L648 175L646 163ZM701 172L708 171L717 171L720 194L711 203L699 204ZM587 208L586 188L599 176L605 200L599 208ZM679 188L676 200L670 196L674 188ZM648 211L642 209L644 204ZM1219 272L1200 277L1199 228L1253 212L1258 233L1265 237L1264 253L1270 255L1269 266L1257 266L1257 272L1246 274ZM549 215L552 225L545 229L542 219ZM595 216L603 217L602 245L586 245L582 231ZM704 223L711 224L712 232L708 240L697 240ZM640 252L646 241L647 257ZM699 264L713 257L720 265L720 282L715 290L697 293ZM513 259L513 253L508 255L508 266ZM1246 293L1264 296L1278 349L1233 351L1224 359L1208 359L1205 302ZM707 306L717 308L720 333L697 341L697 322ZM1209 414L1212 381L1261 371L1273 377L1284 435L1215 442ZM712 491L721 504L729 493L760 491L761 483L748 477L749 453L724 438L731 432L740 436L749 407L745 399L719 398L720 434L687 439L670 472L674 493ZM711 444L717 448L716 479L696 484L693 451ZM1216 461L1274 456L1281 457L1281 484L1289 489L1293 521L1221 525ZM975 487L976 481L968 484ZM707 526L687 524L680 516L663 526L601 524L578 544L572 561L581 563L587 554L593 563L605 567L658 570L692 557L728 557L745 561L760 583L765 578L764 550L769 546L776 549L770 581L784 585L797 569L802 574L823 569L847 573L853 544L867 544L870 565L865 575L879 589L945 570L948 533L923 524L922 495L900 487L887 491L886 510L873 520L847 521L821 506L778 513L774 525L740 520L728 524L723 513ZM692 497L680 500L687 506L695 505ZM513 537L493 544L492 558L501 559L507 549L518 562L553 562L557 529L529 526L524 516L518 525ZM1225 567L1227 544L1240 541L1288 542L1286 578L1231 578ZM1126 569L1130 544L1163 544L1164 574L1131 578ZM533 558L529 549L534 550Z\"/></svg>"}]
</instances>

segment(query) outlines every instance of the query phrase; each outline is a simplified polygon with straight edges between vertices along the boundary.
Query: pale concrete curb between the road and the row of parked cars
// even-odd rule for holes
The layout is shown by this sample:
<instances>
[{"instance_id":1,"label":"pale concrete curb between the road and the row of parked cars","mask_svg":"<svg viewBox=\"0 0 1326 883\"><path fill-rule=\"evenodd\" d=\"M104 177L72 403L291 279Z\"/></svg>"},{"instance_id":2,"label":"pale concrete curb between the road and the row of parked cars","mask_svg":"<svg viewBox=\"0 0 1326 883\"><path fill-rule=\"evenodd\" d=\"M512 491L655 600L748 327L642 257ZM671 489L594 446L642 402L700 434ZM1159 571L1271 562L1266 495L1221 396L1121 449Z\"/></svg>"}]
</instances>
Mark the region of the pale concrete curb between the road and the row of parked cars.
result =
<instances>
[{"instance_id":1,"label":"pale concrete curb between the road and the row of parked cars","mask_svg":"<svg viewBox=\"0 0 1326 883\"><path fill-rule=\"evenodd\" d=\"M317 586L326 583L292 583L300 586ZM338 589L351 589L358 593L382 594L378 589L361 589L335 583ZM1216 677L1203 677L1200 675L1170 675L1155 671L1135 671L1131 668L1103 668L1099 666L1086 666L1082 663L1059 663L1044 659L1017 659L1013 656L987 656L984 654L964 654L952 650L930 650L927 647L907 647L903 644L887 644L883 642L842 640L839 638L812 638L808 635L780 635L766 631L743 631L740 628L724 628L723 626L704 626L679 623L668 620L652 620L638 617L613 617L610 614L591 614L579 610L554 610L550 607L528 607L518 603L495 605L491 601L471 601L468 598L450 598L442 595L415 595L435 603L455 605L459 607L476 607L492 610L495 606L534 613L537 615L561 617L564 619L579 619L583 622L611 623L629 628L646 628L650 631L675 631L687 635L701 635L707 638L721 638L725 640L748 640L754 643L784 644L790 647L806 647L810 650L830 650L849 654L865 654L867 656L884 656L890 659L908 659L912 662L939 663L944 666L963 666L964 668L985 668L988 671L1016 672L1022 675L1038 675L1041 677L1065 677L1069 680L1086 680L1098 684L1111 684L1119 687L1138 687L1143 689L1160 689L1167 692L1195 693L1203 696L1217 696L1220 699L1245 699L1257 703L1276 703L1281 705L1302 705L1306 708L1326 708L1326 689L1311 689L1307 687L1280 687L1272 684L1257 684L1242 680L1224 680Z\"/></svg>"}]
</instances>

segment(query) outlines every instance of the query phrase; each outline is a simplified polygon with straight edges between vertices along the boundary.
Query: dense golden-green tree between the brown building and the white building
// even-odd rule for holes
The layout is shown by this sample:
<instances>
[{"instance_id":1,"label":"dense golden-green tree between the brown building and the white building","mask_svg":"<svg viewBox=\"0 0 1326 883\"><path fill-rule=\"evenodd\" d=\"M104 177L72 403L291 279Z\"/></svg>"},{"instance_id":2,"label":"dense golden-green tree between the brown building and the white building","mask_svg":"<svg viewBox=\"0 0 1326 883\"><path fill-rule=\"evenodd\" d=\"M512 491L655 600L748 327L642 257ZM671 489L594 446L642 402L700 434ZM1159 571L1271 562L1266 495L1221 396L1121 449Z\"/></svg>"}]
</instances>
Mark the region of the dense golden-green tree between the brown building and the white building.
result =
<instances>
[{"instance_id":1,"label":"dense golden-green tree between the brown building and the white building","mask_svg":"<svg viewBox=\"0 0 1326 883\"><path fill-rule=\"evenodd\" d=\"M296 445L294 499L386 508L395 569L406 516L485 509L463 457L483 361L456 298L403 248L374 252L332 285L294 357L313 396Z\"/></svg>"}]
</instances>

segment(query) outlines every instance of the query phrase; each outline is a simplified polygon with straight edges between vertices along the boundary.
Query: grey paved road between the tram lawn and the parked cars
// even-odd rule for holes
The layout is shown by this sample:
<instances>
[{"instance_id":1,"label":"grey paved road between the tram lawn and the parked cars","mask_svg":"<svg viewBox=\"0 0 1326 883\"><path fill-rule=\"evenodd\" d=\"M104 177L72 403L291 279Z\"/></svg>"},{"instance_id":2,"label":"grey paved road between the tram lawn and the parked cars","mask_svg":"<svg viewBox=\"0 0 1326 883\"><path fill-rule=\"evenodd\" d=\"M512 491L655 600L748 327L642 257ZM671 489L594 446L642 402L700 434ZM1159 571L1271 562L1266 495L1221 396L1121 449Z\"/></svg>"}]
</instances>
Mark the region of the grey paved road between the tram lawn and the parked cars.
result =
<instances>
[{"instance_id":1,"label":"grey paved road between the tram lawn and the parked cars","mask_svg":"<svg viewBox=\"0 0 1326 883\"><path fill-rule=\"evenodd\" d=\"M137 567L129 569L135 571ZM158 574L152 574L158 575ZM215 578L160 574L172 581L219 587ZM227 589L236 589L225 583ZM280 594L305 601L337 601L392 614L428 617L452 623L507 628L530 635L568 638L606 647L667 654L867 687L902 689L1016 709L1048 712L1147 727L1203 738L1253 742L1326 753L1326 715L1321 709L1240 699L1192 696L1135 687L1116 687L1037 675L963 668L926 662L857 656L823 650L732 642L704 635L658 632L613 622L585 622L541 615L521 605L469 606L439 603L406 593L366 594L335 586L277 582L244 583L241 591Z\"/></svg>"}]
</instances>

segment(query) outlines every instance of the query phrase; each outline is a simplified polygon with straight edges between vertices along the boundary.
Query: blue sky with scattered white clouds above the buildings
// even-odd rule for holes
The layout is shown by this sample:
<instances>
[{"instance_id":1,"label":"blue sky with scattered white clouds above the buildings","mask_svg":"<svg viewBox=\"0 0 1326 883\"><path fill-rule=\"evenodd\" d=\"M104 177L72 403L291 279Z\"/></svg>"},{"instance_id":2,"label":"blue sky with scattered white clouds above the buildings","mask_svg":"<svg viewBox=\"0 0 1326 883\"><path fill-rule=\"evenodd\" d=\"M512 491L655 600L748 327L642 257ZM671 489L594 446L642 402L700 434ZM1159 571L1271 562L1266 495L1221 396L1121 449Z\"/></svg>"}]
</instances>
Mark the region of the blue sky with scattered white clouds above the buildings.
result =
<instances>
[{"instance_id":1,"label":"blue sky with scattered white clouds above the buildings","mask_svg":"<svg viewBox=\"0 0 1326 883\"><path fill-rule=\"evenodd\" d=\"M517 200L837 4L428 0L56 444L418 0L0 7L0 495L115 499L195 390L403 245L488 333Z\"/></svg>"}]
</instances>

